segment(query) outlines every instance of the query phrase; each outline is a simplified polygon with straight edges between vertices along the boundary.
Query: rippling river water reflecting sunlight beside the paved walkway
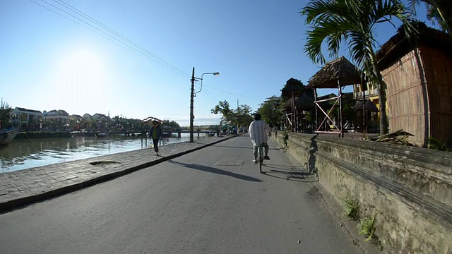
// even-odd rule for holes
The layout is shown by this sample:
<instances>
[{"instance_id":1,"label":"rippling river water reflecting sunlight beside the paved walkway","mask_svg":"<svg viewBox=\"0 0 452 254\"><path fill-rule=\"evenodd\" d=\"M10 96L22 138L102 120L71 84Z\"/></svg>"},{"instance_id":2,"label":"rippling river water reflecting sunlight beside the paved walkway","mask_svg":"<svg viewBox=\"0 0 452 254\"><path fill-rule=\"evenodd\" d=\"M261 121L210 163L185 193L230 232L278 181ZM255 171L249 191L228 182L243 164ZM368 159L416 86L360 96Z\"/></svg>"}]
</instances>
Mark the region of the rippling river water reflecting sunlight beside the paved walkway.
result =
<instances>
[{"instance_id":1,"label":"rippling river water reflecting sunlight beside the paved walkway","mask_svg":"<svg viewBox=\"0 0 452 254\"><path fill-rule=\"evenodd\" d=\"M202 137L201 133L200 138ZM197 133L194 138L198 138ZM163 138L161 145L189 140L190 133L182 133L181 138ZM59 162L70 162L76 159L140 150L150 147L151 144L152 140L138 136L13 140L8 145L0 147L0 174Z\"/></svg>"}]
</instances>

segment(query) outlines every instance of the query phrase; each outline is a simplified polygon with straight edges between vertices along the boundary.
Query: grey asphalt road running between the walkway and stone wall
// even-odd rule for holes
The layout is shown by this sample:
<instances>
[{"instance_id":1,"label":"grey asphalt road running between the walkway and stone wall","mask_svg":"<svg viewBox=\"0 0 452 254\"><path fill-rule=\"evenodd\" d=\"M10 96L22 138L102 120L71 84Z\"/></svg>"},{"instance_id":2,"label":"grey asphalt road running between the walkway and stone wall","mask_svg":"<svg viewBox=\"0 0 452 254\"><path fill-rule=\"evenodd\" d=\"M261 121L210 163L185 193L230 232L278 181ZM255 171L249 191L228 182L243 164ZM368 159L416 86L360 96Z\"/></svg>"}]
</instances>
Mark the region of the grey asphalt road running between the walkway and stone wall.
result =
<instances>
[{"instance_id":1,"label":"grey asphalt road running between the walkway and stone wall","mask_svg":"<svg viewBox=\"0 0 452 254\"><path fill-rule=\"evenodd\" d=\"M0 214L0 253L362 253L316 176L269 156L260 174L242 135Z\"/></svg>"}]
</instances>

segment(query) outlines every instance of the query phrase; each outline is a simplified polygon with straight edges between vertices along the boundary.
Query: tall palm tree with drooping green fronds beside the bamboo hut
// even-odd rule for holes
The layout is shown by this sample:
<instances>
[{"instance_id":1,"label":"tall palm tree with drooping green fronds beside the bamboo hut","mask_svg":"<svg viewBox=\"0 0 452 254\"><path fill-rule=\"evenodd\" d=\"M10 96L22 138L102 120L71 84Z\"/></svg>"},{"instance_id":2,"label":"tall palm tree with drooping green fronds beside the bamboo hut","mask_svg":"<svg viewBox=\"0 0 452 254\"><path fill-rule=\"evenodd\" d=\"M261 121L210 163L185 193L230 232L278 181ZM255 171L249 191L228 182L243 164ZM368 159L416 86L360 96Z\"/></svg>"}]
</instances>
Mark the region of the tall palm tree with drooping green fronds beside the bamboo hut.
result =
<instances>
[{"instance_id":1,"label":"tall palm tree with drooping green fronds beside the bamboo hut","mask_svg":"<svg viewBox=\"0 0 452 254\"><path fill-rule=\"evenodd\" d=\"M323 42L328 45L332 57L338 56L344 42L365 78L378 88L380 133L387 133L386 84L376 62L374 26L391 23L391 18L396 17L410 38L415 32L410 12L398 0L316 0L309 2L300 13L306 16L306 23L311 28L307 32L304 52L314 63L323 64Z\"/></svg>"}]
</instances>

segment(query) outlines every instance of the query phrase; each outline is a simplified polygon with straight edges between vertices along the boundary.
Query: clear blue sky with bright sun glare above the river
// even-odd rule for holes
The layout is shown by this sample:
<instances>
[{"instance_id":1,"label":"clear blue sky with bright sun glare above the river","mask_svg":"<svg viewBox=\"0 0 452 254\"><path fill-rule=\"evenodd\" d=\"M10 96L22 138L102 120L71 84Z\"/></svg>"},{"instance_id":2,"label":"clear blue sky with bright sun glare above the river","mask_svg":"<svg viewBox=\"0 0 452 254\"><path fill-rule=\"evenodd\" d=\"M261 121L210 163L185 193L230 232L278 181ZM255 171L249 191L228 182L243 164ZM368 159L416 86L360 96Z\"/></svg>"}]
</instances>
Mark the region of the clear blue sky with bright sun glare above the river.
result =
<instances>
[{"instance_id":1,"label":"clear blue sky with bright sun glare above the river","mask_svg":"<svg viewBox=\"0 0 452 254\"><path fill-rule=\"evenodd\" d=\"M219 101L256 110L288 79L307 84L319 71L303 53L307 2L0 0L0 97L13 108L188 126L195 67L198 78L220 72L203 75L194 98L194 124L217 124ZM376 31L381 44L396 33Z\"/></svg>"}]
</instances>

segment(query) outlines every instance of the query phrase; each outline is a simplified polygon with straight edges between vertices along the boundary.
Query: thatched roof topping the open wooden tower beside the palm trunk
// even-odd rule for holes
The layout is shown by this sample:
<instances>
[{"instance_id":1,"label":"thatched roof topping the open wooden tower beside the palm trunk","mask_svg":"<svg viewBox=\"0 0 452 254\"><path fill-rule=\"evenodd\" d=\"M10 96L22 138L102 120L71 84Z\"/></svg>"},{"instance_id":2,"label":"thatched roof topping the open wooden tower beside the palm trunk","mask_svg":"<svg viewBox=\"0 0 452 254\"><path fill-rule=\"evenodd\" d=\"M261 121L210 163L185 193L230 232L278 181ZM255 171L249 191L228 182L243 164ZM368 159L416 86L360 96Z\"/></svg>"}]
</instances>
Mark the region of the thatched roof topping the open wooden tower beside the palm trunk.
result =
<instances>
[{"instance_id":1,"label":"thatched roof topping the open wooden tower beside the palm trunk","mask_svg":"<svg viewBox=\"0 0 452 254\"><path fill-rule=\"evenodd\" d=\"M341 87L361 83L358 69L344 56L326 63L309 79L307 87L338 88L338 82Z\"/></svg>"}]
</instances>

